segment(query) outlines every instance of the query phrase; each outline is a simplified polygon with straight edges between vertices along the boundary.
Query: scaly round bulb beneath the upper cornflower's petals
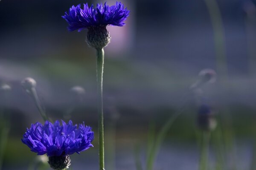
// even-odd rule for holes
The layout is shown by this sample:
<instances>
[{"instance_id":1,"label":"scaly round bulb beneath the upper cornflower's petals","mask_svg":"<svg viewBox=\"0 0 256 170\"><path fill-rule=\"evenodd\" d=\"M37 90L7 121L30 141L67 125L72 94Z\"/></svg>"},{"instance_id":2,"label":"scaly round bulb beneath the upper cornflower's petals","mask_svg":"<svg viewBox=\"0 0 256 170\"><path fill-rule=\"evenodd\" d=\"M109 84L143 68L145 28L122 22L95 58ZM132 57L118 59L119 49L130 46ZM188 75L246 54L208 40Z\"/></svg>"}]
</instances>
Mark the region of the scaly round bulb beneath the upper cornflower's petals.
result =
<instances>
[{"instance_id":1,"label":"scaly round bulb beneath the upper cornflower's petals","mask_svg":"<svg viewBox=\"0 0 256 170\"><path fill-rule=\"evenodd\" d=\"M87 43L93 48L104 48L110 42L110 34L106 26L96 26L88 28Z\"/></svg>"}]
</instances>

